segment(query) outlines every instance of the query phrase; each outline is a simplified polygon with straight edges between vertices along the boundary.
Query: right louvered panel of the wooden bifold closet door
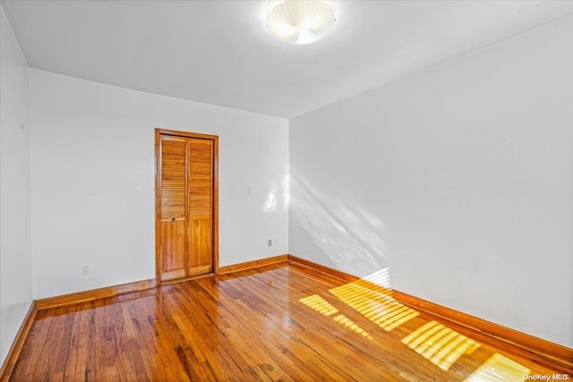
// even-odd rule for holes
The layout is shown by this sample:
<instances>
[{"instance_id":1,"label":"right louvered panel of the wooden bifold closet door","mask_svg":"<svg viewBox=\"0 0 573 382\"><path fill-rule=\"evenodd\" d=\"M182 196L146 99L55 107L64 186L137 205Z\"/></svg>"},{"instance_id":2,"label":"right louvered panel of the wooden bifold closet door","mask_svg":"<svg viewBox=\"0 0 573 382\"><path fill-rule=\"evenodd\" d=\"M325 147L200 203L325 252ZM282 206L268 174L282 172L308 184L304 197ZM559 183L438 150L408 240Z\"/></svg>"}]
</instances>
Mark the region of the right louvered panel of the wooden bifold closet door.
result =
<instances>
[{"instance_id":1,"label":"right louvered panel of the wooden bifold closet door","mask_svg":"<svg viewBox=\"0 0 573 382\"><path fill-rule=\"evenodd\" d=\"M187 275L212 270L213 141L187 141L188 247Z\"/></svg>"}]
</instances>

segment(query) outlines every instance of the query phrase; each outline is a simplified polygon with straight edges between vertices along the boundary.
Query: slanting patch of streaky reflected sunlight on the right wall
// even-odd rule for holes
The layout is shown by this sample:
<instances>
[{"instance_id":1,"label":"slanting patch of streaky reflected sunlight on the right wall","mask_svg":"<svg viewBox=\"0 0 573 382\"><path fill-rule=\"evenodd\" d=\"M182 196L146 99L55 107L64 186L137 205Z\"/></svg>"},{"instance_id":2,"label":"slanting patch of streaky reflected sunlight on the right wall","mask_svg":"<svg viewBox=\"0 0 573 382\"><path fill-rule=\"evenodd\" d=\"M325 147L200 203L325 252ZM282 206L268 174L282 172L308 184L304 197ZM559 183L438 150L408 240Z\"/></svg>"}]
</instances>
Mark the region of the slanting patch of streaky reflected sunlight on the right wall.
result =
<instances>
[{"instance_id":1,"label":"slanting patch of streaky reflected sunlight on the right wall","mask_svg":"<svg viewBox=\"0 0 573 382\"><path fill-rule=\"evenodd\" d=\"M355 276L390 287L388 257L382 221L328 196L291 168L290 214L338 267Z\"/></svg>"}]
</instances>

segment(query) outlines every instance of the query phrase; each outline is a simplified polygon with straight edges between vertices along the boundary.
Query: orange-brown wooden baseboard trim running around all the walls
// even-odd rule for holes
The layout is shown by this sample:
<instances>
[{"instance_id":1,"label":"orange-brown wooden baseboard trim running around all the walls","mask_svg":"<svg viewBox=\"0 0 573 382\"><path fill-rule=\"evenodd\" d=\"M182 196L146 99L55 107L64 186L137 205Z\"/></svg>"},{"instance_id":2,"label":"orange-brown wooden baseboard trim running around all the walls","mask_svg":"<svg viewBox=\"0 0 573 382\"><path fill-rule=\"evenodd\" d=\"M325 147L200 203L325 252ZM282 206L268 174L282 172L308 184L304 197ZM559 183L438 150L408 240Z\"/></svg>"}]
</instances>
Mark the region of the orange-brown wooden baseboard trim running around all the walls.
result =
<instances>
[{"instance_id":1,"label":"orange-brown wooden baseboard trim running around all the walls","mask_svg":"<svg viewBox=\"0 0 573 382\"><path fill-rule=\"evenodd\" d=\"M302 259L293 255L278 255L274 257L246 261L235 265L229 265L218 268L218 275L227 275L243 270L256 269L288 262L299 267L309 267L325 275L333 276L345 282L354 282L360 280L360 277L352 276L346 272L339 271L331 267ZM8 381L12 374L13 367L20 356L22 345L30 332L30 328L36 318L38 310L46 310L59 306L75 304L85 301L93 301L107 297L115 297L120 294L140 292L146 289L159 286L156 279L136 281L128 284L120 284L98 288L90 291L64 294L62 296L48 297L32 301L30 310L22 322L18 334L14 338L13 345L6 356L6 360L0 369L0 382ZM380 287L378 287L380 289ZM518 356L526 357L543 366L560 369L564 372L573 374L573 349L560 344L554 344L550 341L537 338L533 335L526 335L509 327L502 327L498 324L486 321L483 318L476 318L458 310L452 310L433 303L424 301L415 296L401 293L396 290L384 290L397 301L415 310L431 314L440 318L452 329L460 333L469 332L476 340L483 344L492 344L503 351L514 353Z\"/></svg>"}]
</instances>

